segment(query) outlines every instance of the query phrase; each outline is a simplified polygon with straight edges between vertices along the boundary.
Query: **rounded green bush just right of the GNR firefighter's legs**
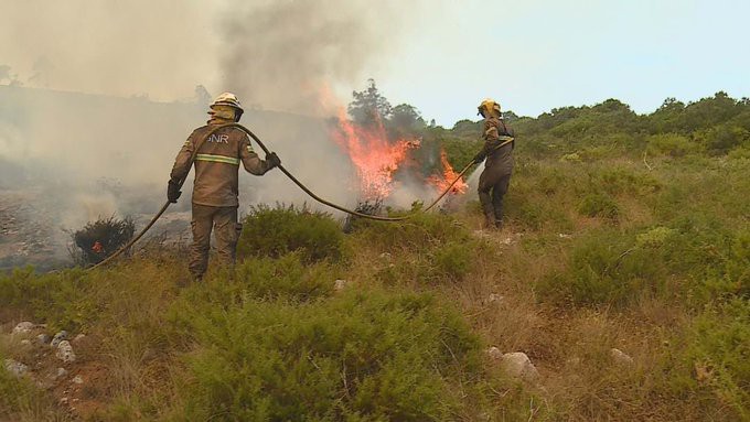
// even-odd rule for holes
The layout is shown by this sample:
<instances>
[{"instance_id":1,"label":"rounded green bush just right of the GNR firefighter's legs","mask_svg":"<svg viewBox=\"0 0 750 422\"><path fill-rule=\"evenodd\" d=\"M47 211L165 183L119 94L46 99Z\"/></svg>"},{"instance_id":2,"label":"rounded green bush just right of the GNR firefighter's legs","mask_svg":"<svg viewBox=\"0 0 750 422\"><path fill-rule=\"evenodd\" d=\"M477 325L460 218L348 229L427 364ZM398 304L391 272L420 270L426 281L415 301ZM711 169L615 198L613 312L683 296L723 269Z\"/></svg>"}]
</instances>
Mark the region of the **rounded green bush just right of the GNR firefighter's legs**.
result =
<instances>
[{"instance_id":1,"label":"rounded green bush just right of the GNR firefighter's legs","mask_svg":"<svg viewBox=\"0 0 750 422\"><path fill-rule=\"evenodd\" d=\"M306 262L344 257L344 235L329 214L306 206L253 207L244 219L237 256L278 258L298 252Z\"/></svg>"}]
</instances>

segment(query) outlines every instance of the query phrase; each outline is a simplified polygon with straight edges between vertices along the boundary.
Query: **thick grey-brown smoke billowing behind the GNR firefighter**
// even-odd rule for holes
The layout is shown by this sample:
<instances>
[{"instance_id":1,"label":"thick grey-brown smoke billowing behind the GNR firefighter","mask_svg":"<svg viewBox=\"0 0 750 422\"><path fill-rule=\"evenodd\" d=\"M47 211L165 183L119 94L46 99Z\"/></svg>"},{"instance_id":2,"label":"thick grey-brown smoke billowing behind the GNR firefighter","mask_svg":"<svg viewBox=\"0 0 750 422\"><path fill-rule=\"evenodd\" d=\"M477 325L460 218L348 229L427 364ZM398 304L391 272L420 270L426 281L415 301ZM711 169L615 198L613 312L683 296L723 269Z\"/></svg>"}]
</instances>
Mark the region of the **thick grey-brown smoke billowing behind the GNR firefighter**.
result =
<instances>
[{"instance_id":1,"label":"thick grey-brown smoke billowing behind the GNR firefighter","mask_svg":"<svg viewBox=\"0 0 750 422\"><path fill-rule=\"evenodd\" d=\"M184 139L205 123L204 85L237 91L243 123L288 169L353 205L355 173L321 118L336 101L320 94L364 83L398 47L407 14L396 1L3 1L0 193L29 193L13 197L55 227L150 215ZM175 210L188 209L190 183ZM278 172L240 184L243 210L309 201Z\"/></svg>"}]
</instances>

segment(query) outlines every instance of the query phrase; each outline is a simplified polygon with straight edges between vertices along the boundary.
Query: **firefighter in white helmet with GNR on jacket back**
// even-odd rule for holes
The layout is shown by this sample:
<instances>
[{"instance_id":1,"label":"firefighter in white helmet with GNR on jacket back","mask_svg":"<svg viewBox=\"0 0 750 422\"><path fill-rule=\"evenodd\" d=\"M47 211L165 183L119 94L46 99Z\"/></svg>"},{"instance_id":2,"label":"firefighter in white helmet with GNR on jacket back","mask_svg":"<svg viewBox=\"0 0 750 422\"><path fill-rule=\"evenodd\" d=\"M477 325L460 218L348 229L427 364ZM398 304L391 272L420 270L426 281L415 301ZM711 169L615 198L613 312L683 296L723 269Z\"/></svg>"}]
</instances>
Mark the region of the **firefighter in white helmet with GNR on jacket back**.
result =
<instances>
[{"instance_id":1,"label":"firefighter in white helmet with GNR on jacket back","mask_svg":"<svg viewBox=\"0 0 750 422\"><path fill-rule=\"evenodd\" d=\"M167 197L176 203L182 194L180 181L191 167L191 158L196 143L218 125L239 121L243 107L232 93L219 95L210 106L208 125L197 128L188 138L174 160L167 188ZM195 182L193 184L193 244L190 248L190 273L193 280L201 280L208 267L211 231L215 229L216 249L219 260L234 264L237 240L242 225L237 223L239 164L251 174L262 175L281 164L271 152L260 160L250 145L250 139L237 128L223 128L203 141L195 154Z\"/></svg>"}]
</instances>

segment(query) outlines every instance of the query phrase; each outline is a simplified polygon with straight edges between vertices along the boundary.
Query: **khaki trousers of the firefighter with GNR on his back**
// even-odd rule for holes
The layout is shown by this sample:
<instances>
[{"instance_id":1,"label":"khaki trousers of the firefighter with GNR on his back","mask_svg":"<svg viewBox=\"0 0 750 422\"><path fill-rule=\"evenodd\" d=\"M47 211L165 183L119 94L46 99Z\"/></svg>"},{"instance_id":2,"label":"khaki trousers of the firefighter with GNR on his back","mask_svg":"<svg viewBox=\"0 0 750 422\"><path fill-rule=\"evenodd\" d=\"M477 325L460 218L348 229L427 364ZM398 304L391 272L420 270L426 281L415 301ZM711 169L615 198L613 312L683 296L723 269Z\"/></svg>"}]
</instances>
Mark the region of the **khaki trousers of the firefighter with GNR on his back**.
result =
<instances>
[{"instance_id":1,"label":"khaki trousers of the firefighter with GNR on his back","mask_svg":"<svg viewBox=\"0 0 750 422\"><path fill-rule=\"evenodd\" d=\"M214 207L193 204L193 244L190 248L190 273L201 279L208 268L211 231L216 229L216 249L223 264L233 266L242 226L237 224L237 207Z\"/></svg>"}]
</instances>

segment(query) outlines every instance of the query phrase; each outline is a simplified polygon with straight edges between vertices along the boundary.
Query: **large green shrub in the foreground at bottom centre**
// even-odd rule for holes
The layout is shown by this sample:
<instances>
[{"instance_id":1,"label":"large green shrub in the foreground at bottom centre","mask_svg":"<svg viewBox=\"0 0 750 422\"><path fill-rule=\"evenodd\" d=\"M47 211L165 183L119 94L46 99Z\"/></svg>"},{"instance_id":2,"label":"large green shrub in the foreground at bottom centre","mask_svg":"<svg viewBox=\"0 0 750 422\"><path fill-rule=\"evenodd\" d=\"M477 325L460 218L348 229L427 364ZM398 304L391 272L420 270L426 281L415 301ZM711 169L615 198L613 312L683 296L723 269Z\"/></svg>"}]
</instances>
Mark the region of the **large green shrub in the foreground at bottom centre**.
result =
<instances>
[{"instance_id":1,"label":"large green shrub in the foreground at bottom centre","mask_svg":"<svg viewBox=\"0 0 750 422\"><path fill-rule=\"evenodd\" d=\"M447 420L480 374L480 344L451 306L407 291L344 291L304 305L175 305L196 344L176 419Z\"/></svg>"}]
</instances>

